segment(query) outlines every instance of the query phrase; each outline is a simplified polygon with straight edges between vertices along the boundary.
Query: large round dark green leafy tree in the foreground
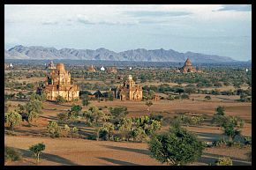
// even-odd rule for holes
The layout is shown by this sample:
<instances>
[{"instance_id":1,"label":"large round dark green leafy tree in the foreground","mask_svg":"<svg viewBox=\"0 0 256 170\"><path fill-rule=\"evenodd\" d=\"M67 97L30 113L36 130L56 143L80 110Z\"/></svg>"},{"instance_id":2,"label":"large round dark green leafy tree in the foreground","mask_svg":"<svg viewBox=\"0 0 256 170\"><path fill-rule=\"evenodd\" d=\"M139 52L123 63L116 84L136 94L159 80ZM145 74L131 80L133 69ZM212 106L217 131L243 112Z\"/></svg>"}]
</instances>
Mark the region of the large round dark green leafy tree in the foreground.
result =
<instances>
[{"instance_id":1,"label":"large round dark green leafy tree in the foreground","mask_svg":"<svg viewBox=\"0 0 256 170\"><path fill-rule=\"evenodd\" d=\"M151 157L168 165L180 166L200 158L204 146L191 132L171 128L153 137L148 143Z\"/></svg>"}]
</instances>

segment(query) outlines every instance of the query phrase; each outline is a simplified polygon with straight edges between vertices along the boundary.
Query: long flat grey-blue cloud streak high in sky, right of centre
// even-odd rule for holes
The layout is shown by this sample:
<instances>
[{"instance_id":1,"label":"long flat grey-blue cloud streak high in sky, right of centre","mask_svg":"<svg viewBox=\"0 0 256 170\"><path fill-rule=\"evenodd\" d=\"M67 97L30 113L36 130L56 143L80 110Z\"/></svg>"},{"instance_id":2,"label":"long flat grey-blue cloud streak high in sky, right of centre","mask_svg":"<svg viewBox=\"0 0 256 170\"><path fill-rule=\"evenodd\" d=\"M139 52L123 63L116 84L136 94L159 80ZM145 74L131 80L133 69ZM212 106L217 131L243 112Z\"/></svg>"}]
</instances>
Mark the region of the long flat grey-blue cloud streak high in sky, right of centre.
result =
<instances>
[{"instance_id":1,"label":"long flat grey-blue cloud streak high in sky, right of centre","mask_svg":"<svg viewBox=\"0 0 256 170\"><path fill-rule=\"evenodd\" d=\"M189 11L126 11L133 17L179 17L192 14Z\"/></svg>"}]
</instances>

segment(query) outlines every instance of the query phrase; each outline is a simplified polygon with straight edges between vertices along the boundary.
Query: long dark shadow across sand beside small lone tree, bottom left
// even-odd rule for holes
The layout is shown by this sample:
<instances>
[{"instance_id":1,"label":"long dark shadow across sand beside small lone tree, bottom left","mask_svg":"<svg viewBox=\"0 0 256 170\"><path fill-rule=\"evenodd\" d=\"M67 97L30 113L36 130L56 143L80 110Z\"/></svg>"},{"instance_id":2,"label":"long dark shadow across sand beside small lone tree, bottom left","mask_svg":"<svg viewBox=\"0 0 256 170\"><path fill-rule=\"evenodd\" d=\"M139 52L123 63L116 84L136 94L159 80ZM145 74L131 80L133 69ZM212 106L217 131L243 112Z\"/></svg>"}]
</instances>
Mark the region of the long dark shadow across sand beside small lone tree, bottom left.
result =
<instances>
[{"instance_id":1,"label":"long dark shadow across sand beside small lone tree, bottom left","mask_svg":"<svg viewBox=\"0 0 256 170\"><path fill-rule=\"evenodd\" d=\"M26 150L19 149L19 148L13 148L13 149L20 152L22 154L22 157L24 157L24 158L34 159L33 152L26 151ZM64 159L60 156L57 156L57 155L54 155L54 154L49 154L49 153L42 153L41 154L41 159L56 162L56 163L59 163L63 166L79 166L78 164L73 163L69 159Z\"/></svg>"}]
</instances>

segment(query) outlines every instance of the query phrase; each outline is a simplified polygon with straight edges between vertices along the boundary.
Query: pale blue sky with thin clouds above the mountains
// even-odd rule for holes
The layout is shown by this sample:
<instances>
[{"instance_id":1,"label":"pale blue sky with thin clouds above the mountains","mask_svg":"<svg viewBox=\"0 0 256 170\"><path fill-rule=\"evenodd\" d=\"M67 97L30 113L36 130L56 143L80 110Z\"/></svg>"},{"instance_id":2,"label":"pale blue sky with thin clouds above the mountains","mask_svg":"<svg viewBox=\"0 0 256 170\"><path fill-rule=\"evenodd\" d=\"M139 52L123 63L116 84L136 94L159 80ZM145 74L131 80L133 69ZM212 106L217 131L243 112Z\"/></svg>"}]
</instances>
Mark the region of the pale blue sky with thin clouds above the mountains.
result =
<instances>
[{"instance_id":1,"label":"pale blue sky with thin clouds above the mountains","mask_svg":"<svg viewBox=\"0 0 256 170\"><path fill-rule=\"evenodd\" d=\"M5 4L4 48L173 49L252 59L251 4Z\"/></svg>"}]
</instances>

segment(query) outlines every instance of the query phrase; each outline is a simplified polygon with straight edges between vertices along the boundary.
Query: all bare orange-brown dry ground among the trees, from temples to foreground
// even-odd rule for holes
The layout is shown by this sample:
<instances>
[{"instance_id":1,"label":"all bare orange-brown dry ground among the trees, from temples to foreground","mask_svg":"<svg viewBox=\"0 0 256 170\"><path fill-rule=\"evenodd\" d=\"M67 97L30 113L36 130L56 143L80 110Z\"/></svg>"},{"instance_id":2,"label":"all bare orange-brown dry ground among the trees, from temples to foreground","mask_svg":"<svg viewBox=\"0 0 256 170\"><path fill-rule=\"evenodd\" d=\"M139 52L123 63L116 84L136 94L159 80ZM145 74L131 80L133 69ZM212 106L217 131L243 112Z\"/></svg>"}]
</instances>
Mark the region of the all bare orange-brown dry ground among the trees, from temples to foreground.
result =
<instances>
[{"instance_id":1,"label":"all bare orange-brown dry ground among the trees, from temples to foreground","mask_svg":"<svg viewBox=\"0 0 256 170\"><path fill-rule=\"evenodd\" d=\"M153 101L154 105L150 107L151 113L161 113L164 116L174 116L180 112L192 112L202 115L212 116L215 114L217 106L225 107L227 115L237 115L246 121L242 134L252 136L252 103L242 103L234 101L233 96L211 96L212 100L204 101L203 94L192 94L191 99L194 100L160 100ZM9 101L12 107L17 106L20 102ZM78 101L77 104L80 104ZM14 147L23 154L23 159L19 162L9 162L7 165L34 165L34 159L28 147L32 144L43 142L46 144L45 153L39 165L92 165L92 166L116 166L116 165L162 165L149 157L147 144L145 143L127 143L127 142L111 142L111 141L94 141L87 139L75 138L50 138L43 137L46 133L48 121L56 120L56 114L65 112L71 107L72 103L56 105L50 102L43 103L43 115L37 120L37 126L26 127L26 122L22 126L15 129L16 136L5 135L4 143ZM106 107L127 107L128 116L148 115L145 101L92 101L91 105L102 107L103 111L107 111ZM84 107L83 110L87 109ZM93 128L78 125L79 130L84 134L94 133ZM169 127L163 127L168 129ZM214 141L222 137L222 130L218 127L210 126L204 123L200 126L185 127L195 132L205 141ZM222 156L230 156L234 165L251 165L246 160L246 153L252 151L251 148L207 148L201 159L192 165L208 165L214 163L215 159Z\"/></svg>"}]
</instances>

